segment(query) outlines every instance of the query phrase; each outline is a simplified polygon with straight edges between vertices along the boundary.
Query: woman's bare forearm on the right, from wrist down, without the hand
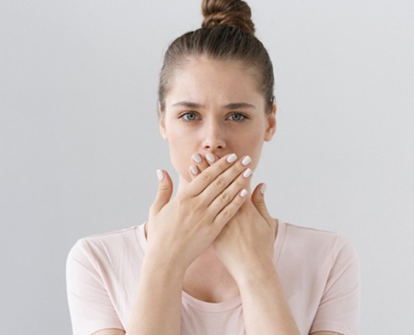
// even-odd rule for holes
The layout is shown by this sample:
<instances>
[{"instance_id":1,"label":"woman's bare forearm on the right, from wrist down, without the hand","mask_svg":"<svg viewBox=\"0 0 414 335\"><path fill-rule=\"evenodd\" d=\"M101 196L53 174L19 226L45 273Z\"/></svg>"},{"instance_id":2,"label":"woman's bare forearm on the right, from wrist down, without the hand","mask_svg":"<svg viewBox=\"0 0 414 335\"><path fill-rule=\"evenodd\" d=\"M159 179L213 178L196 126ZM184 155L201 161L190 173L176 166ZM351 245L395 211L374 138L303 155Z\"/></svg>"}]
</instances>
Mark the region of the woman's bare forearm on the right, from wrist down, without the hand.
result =
<instances>
[{"instance_id":1,"label":"woman's bare forearm on the right, from wrist down, without the hand","mask_svg":"<svg viewBox=\"0 0 414 335\"><path fill-rule=\"evenodd\" d=\"M299 335L273 263L262 269L249 271L237 282L246 334Z\"/></svg>"}]
</instances>

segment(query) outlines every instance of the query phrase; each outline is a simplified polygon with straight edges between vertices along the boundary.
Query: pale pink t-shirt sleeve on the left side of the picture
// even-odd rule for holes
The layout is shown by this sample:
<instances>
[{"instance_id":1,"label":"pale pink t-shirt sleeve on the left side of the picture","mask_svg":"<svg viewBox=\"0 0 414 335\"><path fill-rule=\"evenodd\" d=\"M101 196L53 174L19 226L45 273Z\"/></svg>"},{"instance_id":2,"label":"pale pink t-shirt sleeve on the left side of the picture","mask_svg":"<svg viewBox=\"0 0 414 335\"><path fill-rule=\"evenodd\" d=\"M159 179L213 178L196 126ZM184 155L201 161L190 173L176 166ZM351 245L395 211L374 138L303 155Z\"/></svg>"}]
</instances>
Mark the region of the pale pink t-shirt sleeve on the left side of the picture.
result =
<instances>
[{"instance_id":1,"label":"pale pink t-shirt sleeve on the left side of the picture","mask_svg":"<svg viewBox=\"0 0 414 335\"><path fill-rule=\"evenodd\" d=\"M66 289L74 335L124 329L113 307L99 264L88 242L79 240L66 262Z\"/></svg>"}]
</instances>

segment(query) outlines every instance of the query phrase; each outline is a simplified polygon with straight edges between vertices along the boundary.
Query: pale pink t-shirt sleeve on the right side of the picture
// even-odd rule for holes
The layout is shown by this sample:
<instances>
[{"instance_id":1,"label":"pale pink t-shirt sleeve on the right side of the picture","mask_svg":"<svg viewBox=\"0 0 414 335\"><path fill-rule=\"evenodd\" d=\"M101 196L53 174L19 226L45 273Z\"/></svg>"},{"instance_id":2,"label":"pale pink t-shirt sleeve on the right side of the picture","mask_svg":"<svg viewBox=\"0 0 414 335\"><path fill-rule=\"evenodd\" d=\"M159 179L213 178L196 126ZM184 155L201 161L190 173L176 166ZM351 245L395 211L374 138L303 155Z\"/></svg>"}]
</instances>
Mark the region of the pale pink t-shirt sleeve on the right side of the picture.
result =
<instances>
[{"instance_id":1,"label":"pale pink t-shirt sleeve on the right side of the picture","mask_svg":"<svg viewBox=\"0 0 414 335\"><path fill-rule=\"evenodd\" d=\"M357 335L360 308L359 259L351 242L338 236L324 293L311 327L312 332L331 331Z\"/></svg>"}]
</instances>

